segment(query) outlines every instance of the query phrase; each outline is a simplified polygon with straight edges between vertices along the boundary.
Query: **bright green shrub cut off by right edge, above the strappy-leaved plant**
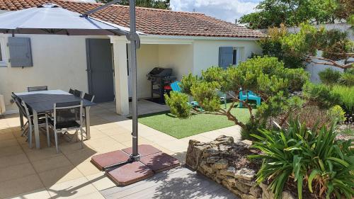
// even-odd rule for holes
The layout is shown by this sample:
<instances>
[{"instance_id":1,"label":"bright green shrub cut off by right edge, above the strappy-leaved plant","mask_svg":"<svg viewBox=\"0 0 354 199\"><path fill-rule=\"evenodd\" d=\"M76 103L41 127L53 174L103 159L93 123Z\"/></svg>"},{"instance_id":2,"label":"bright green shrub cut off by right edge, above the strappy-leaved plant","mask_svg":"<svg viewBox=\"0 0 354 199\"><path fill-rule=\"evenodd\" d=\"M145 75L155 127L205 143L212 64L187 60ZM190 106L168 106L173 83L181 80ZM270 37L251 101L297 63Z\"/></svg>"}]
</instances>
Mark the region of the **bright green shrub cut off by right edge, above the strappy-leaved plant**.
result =
<instances>
[{"instance_id":1,"label":"bright green shrub cut off by right edge, above the strappy-leaved plant","mask_svg":"<svg viewBox=\"0 0 354 199\"><path fill-rule=\"evenodd\" d=\"M331 93L334 93L341 98L341 106L348 114L354 114L354 86L340 86L332 87Z\"/></svg>"}]
</instances>

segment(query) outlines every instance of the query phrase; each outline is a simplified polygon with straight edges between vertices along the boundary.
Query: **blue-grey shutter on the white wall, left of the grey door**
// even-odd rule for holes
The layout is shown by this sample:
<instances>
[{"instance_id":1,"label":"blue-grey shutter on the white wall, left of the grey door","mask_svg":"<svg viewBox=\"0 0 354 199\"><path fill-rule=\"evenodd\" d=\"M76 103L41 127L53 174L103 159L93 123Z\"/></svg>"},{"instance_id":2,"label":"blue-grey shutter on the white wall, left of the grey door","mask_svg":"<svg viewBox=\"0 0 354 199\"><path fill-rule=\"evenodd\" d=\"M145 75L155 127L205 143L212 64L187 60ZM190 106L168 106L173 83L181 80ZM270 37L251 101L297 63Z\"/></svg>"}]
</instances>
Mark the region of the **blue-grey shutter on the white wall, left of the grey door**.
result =
<instances>
[{"instance_id":1,"label":"blue-grey shutter on the white wall, left of the grey door","mask_svg":"<svg viewBox=\"0 0 354 199\"><path fill-rule=\"evenodd\" d=\"M11 67L32 67L30 38L8 38Z\"/></svg>"}]
</instances>

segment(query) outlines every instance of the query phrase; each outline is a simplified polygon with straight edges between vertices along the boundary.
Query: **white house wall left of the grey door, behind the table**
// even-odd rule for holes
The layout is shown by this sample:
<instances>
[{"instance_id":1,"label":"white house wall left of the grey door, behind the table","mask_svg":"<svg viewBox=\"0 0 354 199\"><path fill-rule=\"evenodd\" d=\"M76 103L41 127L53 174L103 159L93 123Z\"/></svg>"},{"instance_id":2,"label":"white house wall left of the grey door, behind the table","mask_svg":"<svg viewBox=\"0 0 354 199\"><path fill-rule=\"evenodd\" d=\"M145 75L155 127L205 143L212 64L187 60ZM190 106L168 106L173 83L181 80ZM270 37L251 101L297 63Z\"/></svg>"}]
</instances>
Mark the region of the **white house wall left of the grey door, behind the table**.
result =
<instances>
[{"instance_id":1,"label":"white house wall left of the grey door, behind the table","mask_svg":"<svg viewBox=\"0 0 354 199\"><path fill-rule=\"evenodd\" d=\"M11 35L0 34L4 42ZM68 91L70 87L88 91L86 72L86 38L67 35L16 35L30 38L33 67L0 67L0 94L5 96L6 110L17 110L11 92L26 91L28 86L47 85L49 89ZM6 47L6 59L8 48Z\"/></svg>"}]
</instances>

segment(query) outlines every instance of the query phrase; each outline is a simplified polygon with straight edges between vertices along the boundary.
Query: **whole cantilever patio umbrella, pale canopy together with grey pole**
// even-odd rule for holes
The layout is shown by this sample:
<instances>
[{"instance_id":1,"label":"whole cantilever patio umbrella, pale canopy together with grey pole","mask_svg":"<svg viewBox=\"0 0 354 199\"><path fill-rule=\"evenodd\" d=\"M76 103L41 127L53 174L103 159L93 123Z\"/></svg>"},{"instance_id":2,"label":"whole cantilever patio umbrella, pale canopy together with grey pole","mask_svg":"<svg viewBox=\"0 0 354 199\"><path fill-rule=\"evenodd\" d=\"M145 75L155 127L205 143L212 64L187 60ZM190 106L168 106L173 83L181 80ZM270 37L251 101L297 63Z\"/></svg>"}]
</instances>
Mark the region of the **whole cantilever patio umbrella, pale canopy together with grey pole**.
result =
<instances>
[{"instance_id":1,"label":"whole cantilever patio umbrella, pale canopy together with grey pole","mask_svg":"<svg viewBox=\"0 0 354 199\"><path fill-rule=\"evenodd\" d=\"M125 35L130 40L129 63L132 67L132 154L130 161L139 161L137 130L137 48L139 34L135 24L135 0L130 0L130 28L90 17L92 13L120 0L113 0L84 14L68 11L56 4L0 14L0 33L52 35Z\"/></svg>"}]
</instances>

